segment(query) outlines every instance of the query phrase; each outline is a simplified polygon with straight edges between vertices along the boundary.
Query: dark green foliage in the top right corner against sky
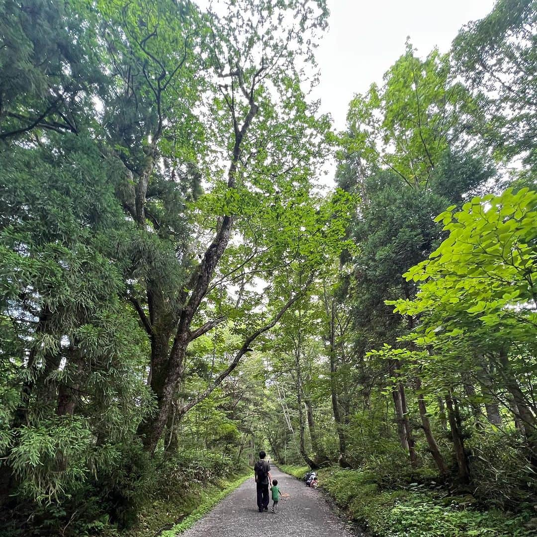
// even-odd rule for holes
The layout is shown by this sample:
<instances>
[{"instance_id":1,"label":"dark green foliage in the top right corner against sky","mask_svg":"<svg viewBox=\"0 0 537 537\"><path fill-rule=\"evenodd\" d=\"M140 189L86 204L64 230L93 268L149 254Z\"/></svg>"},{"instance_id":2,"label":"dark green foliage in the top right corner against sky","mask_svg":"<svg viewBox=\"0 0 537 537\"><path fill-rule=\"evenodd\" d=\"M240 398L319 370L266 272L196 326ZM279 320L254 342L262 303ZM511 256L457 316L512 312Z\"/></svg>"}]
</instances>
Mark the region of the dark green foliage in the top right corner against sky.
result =
<instances>
[{"instance_id":1,"label":"dark green foliage in the top right corner against sky","mask_svg":"<svg viewBox=\"0 0 537 537\"><path fill-rule=\"evenodd\" d=\"M535 180L537 54L535 0L499 0L481 20L463 27L453 42L454 71L480 100L475 128L498 158L525 157Z\"/></svg>"}]
</instances>

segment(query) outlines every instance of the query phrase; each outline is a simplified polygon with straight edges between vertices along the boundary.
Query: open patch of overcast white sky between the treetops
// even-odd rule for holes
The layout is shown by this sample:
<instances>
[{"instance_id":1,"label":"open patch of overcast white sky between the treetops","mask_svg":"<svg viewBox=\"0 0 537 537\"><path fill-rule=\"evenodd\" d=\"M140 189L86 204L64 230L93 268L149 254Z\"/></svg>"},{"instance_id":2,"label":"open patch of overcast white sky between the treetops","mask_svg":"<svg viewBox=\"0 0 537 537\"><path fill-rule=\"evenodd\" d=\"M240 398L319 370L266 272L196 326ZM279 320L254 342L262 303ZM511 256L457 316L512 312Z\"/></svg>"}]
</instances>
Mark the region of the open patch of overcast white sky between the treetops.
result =
<instances>
[{"instance_id":1,"label":"open patch of overcast white sky between the treetops","mask_svg":"<svg viewBox=\"0 0 537 537\"><path fill-rule=\"evenodd\" d=\"M317 50L315 97L345 128L354 93L364 93L404 52L407 36L420 56L447 52L459 28L491 11L494 0L328 0L330 28Z\"/></svg>"}]
</instances>

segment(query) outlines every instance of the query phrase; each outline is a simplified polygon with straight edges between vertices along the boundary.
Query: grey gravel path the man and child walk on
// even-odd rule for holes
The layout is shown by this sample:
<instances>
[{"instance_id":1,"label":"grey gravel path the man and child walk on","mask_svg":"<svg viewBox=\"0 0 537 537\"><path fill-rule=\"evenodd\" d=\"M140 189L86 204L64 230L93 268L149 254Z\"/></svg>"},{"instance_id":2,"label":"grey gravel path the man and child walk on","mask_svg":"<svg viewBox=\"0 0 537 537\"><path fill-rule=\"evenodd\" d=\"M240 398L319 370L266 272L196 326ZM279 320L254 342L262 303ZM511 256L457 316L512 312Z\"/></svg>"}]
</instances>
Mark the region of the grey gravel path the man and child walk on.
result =
<instances>
[{"instance_id":1,"label":"grey gravel path the man and child walk on","mask_svg":"<svg viewBox=\"0 0 537 537\"><path fill-rule=\"evenodd\" d=\"M251 480L231 492L183 537L356 537L352 525L342 521L331 509L320 490L272 467L282 495L278 513L260 513L256 504L256 484Z\"/></svg>"}]
</instances>

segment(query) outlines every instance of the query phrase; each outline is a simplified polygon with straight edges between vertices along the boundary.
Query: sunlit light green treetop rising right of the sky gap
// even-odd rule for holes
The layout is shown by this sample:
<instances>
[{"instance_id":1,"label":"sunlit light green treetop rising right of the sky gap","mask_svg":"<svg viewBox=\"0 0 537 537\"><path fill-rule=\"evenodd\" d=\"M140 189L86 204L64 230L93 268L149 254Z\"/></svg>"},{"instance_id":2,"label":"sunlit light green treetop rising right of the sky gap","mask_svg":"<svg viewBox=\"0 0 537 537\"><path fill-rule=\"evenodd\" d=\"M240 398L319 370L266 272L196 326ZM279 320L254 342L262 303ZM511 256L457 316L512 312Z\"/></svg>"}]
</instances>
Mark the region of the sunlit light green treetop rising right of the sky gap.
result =
<instances>
[{"instance_id":1,"label":"sunlit light green treetop rising right of the sky gap","mask_svg":"<svg viewBox=\"0 0 537 537\"><path fill-rule=\"evenodd\" d=\"M384 75L351 101L344 144L368 171L388 168L409 186L429 184L442 155L454 149L471 100L450 75L449 56L433 50L425 60L412 46Z\"/></svg>"}]
</instances>

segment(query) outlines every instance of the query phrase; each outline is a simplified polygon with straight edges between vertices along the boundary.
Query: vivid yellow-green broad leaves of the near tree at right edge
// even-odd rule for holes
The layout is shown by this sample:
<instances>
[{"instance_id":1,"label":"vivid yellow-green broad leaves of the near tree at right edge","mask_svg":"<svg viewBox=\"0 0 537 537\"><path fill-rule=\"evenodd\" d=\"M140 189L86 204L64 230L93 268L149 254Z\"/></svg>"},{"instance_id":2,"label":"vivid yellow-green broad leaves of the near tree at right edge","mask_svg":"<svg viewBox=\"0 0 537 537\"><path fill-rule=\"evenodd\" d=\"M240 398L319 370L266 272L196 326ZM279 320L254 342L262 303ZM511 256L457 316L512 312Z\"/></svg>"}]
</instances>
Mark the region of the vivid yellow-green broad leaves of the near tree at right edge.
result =
<instances>
[{"instance_id":1,"label":"vivid yellow-green broad leaves of the near tree at right edge","mask_svg":"<svg viewBox=\"0 0 537 537\"><path fill-rule=\"evenodd\" d=\"M422 326L427 325L433 338L440 331L464 336L468 324L470 338L474 330L489 333L487 345L500 344L498 339L534 344L537 193L507 189L499 196L476 197L461 211L448 208L437 221L444 223L449 236L430 260L405 274L424 284L416 301L398 303L398 311L429 314ZM438 321L441 324L431 324Z\"/></svg>"}]
</instances>

